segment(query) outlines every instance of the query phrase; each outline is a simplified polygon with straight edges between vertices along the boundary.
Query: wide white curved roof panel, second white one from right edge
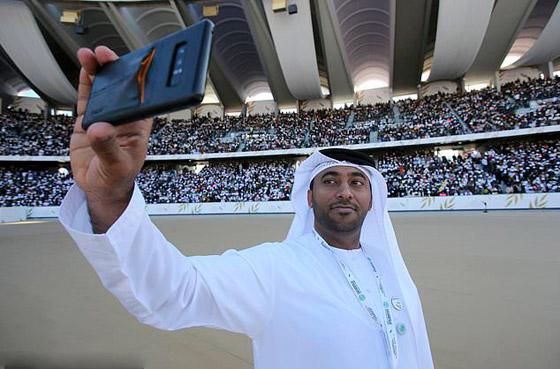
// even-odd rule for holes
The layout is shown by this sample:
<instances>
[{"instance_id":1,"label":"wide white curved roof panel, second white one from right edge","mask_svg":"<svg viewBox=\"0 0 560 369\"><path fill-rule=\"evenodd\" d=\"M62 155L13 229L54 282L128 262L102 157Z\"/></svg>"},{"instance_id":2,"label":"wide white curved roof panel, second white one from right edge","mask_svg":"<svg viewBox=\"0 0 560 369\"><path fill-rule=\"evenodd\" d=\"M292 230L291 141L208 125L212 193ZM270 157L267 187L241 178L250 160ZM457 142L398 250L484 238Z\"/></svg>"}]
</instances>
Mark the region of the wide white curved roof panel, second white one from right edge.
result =
<instances>
[{"instance_id":1,"label":"wide white curved roof panel, second white one from right edge","mask_svg":"<svg viewBox=\"0 0 560 369\"><path fill-rule=\"evenodd\" d=\"M440 1L429 81L465 75L478 55L493 7L494 0Z\"/></svg>"}]
</instances>

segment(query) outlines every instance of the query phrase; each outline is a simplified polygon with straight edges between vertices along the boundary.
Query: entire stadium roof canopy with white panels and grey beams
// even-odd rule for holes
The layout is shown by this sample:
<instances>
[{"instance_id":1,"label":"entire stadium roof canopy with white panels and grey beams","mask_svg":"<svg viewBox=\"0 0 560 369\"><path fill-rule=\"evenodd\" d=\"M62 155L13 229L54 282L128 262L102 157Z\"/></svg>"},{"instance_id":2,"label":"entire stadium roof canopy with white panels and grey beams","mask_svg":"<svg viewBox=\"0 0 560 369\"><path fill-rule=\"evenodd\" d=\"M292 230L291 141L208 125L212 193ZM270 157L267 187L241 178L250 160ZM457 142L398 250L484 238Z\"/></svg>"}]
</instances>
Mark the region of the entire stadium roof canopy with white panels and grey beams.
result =
<instances>
[{"instance_id":1,"label":"entire stadium roof canopy with white panels and grey beams","mask_svg":"<svg viewBox=\"0 0 560 369\"><path fill-rule=\"evenodd\" d=\"M0 0L0 96L31 87L71 106L78 48L122 55L205 17L216 24L208 90L229 111L250 99L289 107L379 87L410 94L422 81L489 82L560 56L558 0L286 3L297 12L275 12L272 0ZM76 10L75 25L61 22Z\"/></svg>"}]
</instances>

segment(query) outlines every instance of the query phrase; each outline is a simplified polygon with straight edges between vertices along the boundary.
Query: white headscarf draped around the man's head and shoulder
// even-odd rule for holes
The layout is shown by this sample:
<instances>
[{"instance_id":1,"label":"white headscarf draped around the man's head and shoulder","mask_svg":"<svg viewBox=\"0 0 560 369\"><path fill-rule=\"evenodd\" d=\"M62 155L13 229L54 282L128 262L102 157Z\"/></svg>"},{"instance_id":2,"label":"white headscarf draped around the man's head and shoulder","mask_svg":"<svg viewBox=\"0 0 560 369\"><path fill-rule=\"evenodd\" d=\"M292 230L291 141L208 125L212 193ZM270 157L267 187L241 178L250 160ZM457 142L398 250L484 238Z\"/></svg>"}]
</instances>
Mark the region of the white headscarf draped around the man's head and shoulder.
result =
<instances>
[{"instance_id":1,"label":"white headscarf draped around the man's head and shoulder","mask_svg":"<svg viewBox=\"0 0 560 369\"><path fill-rule=\"evenodd\" d=\"M342 149L337 150L342 151ZM352 151L347 150L347 152L351 153ZM349 158L348 160L352 159ZM372 166L356 165L348 161L336 160L319 151L312 154L301 164L294 175L291 201L295 217L286 239L296 239L313 230L315 217L313 209L307 202L307 190L315 175L333 166L334 163L360 168L370 179L373 206L362 225L360 244L368 254L382 253L391 262L391 267L397 275L405 306L408 307L407 310L412 324L411 331L416 339L418 367L423 369L433 368L420 297L397 244L395 231L387 211L387 184L381 173Z\"/></svg>"}]
</instances>

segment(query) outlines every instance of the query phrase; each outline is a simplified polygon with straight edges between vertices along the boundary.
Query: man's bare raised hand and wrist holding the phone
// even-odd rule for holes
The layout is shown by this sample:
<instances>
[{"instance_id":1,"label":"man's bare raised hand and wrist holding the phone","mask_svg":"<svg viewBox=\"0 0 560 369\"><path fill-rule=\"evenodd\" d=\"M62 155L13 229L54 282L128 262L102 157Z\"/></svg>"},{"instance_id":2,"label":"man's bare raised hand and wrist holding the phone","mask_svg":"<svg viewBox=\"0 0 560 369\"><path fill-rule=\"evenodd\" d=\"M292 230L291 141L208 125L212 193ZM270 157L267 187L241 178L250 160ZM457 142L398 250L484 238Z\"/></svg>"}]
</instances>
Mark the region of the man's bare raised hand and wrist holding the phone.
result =
<instances>
[{"instance_id":1,"label":"man's bare raised hand and wrist holding the phone","mask_svg":"<svg viewBox=\"0 0 560 369\"><path fill-rule=\"evenodd\" d=\"M99 122L84 131L82 120L96 71L118 56L109 48L99 46L95 51L78 50L78 59L82 69L70 162L74 180L85 192L93 229L104 233L130 201L134 178L146 159L152 119L120 126Z\"/></svg>"}]
</instances>

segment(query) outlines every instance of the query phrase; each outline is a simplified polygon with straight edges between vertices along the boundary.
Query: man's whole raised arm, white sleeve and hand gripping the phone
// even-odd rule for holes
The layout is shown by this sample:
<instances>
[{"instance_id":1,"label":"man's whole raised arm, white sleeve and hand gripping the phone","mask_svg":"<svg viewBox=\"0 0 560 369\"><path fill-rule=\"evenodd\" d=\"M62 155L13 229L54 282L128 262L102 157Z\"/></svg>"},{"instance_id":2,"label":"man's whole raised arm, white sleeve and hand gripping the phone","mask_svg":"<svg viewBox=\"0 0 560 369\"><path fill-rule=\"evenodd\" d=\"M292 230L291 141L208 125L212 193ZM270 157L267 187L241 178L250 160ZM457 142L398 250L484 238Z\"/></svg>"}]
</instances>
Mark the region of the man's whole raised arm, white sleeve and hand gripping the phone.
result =
<instances>
[{"instance_id":1,"label":"man's whole raised arm, white sleeve and hand gripping the phone","mask_svg":"<svg viewBox=\"0 0 560 369\"><path fill-rule=\"evenodd\" d=\"M60 208L61 223L103 285L141 322L167 330L203 325L256 335L272 314L271 248L183 256L152 224L134 184L146 158L151 120L82 129L95 72L116 58L106 47L78 52L78 118L70 141L76 185Z\"/></svg>"}]
</instances>

